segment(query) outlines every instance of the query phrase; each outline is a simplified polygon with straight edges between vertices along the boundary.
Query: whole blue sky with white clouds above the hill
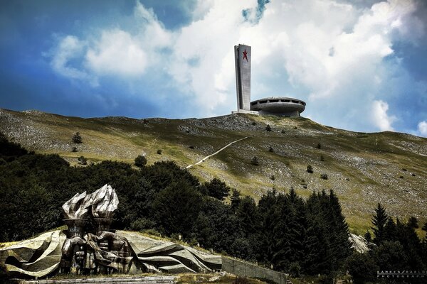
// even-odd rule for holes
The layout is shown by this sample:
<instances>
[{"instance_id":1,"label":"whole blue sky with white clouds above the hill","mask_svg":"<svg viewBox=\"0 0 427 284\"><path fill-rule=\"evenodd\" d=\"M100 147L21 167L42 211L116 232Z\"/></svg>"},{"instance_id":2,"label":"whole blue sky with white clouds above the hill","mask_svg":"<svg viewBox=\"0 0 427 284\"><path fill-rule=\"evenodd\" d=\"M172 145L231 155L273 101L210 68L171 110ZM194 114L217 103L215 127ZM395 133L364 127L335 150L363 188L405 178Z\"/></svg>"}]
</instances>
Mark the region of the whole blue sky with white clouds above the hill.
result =
<instances>
[{"instance_id":1,"label":"whole blue sky with white clouds above the hill","mask_svg":"<svg viewBox=\"0 0 427 284\"><path fill-rule=\"evenodd\" d=\"M427 137L427 1L3 1L0 108L184 119L236 110L233 46L251 99L302 116Z\"/></svg>"}]
</instances>

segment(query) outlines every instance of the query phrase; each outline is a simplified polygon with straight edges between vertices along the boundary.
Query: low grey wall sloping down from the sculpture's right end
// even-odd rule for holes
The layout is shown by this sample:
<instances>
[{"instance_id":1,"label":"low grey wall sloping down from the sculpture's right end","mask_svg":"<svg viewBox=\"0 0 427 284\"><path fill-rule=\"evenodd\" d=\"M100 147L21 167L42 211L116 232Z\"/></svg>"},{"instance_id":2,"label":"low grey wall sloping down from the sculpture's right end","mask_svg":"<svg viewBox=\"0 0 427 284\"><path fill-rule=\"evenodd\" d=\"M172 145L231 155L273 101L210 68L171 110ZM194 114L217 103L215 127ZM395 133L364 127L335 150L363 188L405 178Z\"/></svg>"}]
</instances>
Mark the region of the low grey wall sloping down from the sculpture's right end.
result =
<instances>
[{"instance_id":1,"label":"low grey wall sloping down from the sculpture's right end","mask_svg":"<svg viewBox=\"0 0 427 284\"><path fill-rule=\"evenodd\" d=\"M253 263L238 261L226 256L222 257L222 270L241 277L260 278L271 280L278 284L286 284L286 275L278 271L255 266Z\"/></svg>"}]
</instances>

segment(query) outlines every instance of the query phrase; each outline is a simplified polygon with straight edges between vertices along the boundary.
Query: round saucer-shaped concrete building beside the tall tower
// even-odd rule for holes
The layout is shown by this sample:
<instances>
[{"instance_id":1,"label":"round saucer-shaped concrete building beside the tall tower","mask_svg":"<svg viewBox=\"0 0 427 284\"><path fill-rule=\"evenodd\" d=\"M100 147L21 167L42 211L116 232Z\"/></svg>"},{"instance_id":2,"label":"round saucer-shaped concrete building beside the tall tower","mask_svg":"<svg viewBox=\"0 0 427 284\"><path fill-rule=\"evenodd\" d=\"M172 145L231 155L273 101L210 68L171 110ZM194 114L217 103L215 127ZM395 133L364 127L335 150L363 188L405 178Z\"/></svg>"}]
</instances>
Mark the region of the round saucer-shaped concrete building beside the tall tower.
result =
<instances>
[{"instance_id":1,"label":"round saucer-shaped concrete building beside the tall tower","mask_svg":"<svg viewBox=\"0 0 427 284\"><path fill-rule=\"evenodd\" d=\"M300 116L305 109L305 102L290 97L268 97L251 102L251 111L260 114L280 116Z\"/></svg>"}]
</instances>

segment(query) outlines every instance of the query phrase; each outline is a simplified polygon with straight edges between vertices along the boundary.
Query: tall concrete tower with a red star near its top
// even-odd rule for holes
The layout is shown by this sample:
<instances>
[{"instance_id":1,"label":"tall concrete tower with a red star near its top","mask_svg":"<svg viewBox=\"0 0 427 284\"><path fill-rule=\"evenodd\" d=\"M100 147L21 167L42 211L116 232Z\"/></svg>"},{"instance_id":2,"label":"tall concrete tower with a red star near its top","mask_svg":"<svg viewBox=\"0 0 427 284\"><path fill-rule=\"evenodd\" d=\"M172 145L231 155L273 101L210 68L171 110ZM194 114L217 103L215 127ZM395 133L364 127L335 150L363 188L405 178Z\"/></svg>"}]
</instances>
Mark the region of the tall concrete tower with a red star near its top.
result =
<instances>
[{"instance_id":1,"label":"tall concrete tower with a red star near its top","mask_svg":"<svg viewBox=\"0 0 427 284\"><path fill-rule=\"evenodd\" d=\"M237 112L251 112L251 46L234 45Z\"/></svg>"}]
</instances>

